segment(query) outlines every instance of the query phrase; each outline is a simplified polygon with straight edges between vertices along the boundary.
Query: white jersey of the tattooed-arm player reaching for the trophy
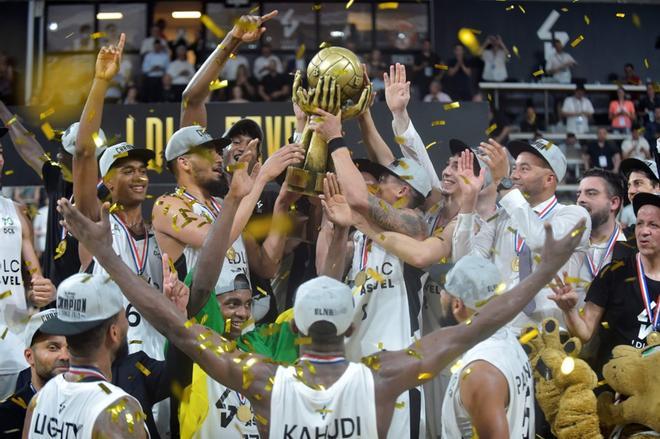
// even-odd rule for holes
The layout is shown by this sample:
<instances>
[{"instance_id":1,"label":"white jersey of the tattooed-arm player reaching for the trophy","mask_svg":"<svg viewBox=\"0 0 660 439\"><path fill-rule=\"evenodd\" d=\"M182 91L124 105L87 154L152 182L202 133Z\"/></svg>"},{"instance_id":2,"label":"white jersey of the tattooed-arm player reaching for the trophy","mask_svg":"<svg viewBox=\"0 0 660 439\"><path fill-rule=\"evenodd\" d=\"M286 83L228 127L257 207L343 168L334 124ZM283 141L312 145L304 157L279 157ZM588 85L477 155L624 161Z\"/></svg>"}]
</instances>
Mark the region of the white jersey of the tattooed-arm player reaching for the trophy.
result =
<instances>
[{"instance_id":1,"label":"white jersey of the tattooed-arm player reaching for the trophy","mask_svg":"<svg viewBox=\"0 0 660 439\"><path fill-rule=\"evenodd\" d=\"M355 285L356 278L365 275L367 280L353 289L354 331L346 339L346 357L360 361L380 350L405 349L421 338L422 271L387 253L361 232L353 240L349 283ZM417 438L426 428L421 387L402 393L397 403L403 408L394 411L388 437Z\"/></svg>"}]
</instances>

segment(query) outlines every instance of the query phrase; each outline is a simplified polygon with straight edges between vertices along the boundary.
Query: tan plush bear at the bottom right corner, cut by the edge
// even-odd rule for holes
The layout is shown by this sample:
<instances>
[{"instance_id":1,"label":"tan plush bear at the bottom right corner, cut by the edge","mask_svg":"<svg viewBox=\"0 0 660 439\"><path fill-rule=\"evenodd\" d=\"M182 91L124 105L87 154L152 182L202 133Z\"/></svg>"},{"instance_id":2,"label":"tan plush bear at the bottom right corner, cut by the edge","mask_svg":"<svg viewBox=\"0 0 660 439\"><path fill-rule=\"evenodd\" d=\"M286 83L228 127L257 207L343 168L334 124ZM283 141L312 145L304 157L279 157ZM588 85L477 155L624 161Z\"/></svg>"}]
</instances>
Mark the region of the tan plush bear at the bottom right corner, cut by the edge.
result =
<instances>
[{"instance_id":1,"label":"tan plush bear at the bottom right corner, cut by the edge","mask_svg":"<svg viewBox=\"0 0 660 439\"><path fill-rule=\"evenodd\" d=\"M641 349L615 347L603 366L603 377L617 395L600 394L598 414L606 429L617 426L615 437L660 436L660 333L652 333L646 342Z\"/></svg>"}]
</instances>

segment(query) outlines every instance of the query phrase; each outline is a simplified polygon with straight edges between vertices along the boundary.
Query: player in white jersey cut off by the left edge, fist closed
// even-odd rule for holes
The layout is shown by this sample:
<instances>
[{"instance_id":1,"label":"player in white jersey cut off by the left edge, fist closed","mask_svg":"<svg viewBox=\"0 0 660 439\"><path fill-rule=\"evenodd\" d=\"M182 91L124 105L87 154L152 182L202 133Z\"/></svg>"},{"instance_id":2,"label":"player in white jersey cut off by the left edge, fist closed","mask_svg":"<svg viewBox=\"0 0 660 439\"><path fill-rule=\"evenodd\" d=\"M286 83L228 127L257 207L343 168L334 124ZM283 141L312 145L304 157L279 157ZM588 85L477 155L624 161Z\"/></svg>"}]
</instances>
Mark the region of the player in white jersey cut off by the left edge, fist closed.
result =
<instances>
[{"instance_id":1,"label":"player in white jersey cut off by the left edge, fist closed","mask_svg":"<svg viewBox=\"0 0 660 439\"><path fill-rule=\"evenodd\" d=\"M4 167L0 145L0 175ZM27 367L23 358L19 322L27 314L28 305L42 307L55 298L55 286L42 276L32 239L32 222L24 206L0 194L0 400L14 392L16 379ZM11 328L9 327L11 326Z\"/></svg>"}]
</instances>

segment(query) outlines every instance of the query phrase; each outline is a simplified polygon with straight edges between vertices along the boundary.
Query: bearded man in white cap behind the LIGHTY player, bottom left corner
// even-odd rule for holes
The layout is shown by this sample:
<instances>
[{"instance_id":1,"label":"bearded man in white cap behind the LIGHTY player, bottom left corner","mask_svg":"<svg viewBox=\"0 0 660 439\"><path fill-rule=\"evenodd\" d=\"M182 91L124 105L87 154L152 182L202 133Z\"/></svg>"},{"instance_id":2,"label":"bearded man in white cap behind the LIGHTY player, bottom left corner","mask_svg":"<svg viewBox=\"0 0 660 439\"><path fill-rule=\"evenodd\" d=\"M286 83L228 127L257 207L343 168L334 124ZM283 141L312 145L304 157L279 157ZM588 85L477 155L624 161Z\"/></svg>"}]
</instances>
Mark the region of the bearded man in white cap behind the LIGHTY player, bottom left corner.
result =
<instances>
[{"instance_id":1,"label":"bearded man in white cap behind the LIGHTY player, bottom left corner","mask_svg":"<svg viewBox=\"0 0 660 439\"><path fill-rule=\"evenodd\" d=\"M23 430L27 404L36 392L54 376L69 369L66 339L40 331L41 325L57 315L57 310L41 311L30 318L25 328L25 361L30 365L21 373L28 376L16 392L0 403L0 433L6 439L18 439Z\"/></svg>"}]
</instances>

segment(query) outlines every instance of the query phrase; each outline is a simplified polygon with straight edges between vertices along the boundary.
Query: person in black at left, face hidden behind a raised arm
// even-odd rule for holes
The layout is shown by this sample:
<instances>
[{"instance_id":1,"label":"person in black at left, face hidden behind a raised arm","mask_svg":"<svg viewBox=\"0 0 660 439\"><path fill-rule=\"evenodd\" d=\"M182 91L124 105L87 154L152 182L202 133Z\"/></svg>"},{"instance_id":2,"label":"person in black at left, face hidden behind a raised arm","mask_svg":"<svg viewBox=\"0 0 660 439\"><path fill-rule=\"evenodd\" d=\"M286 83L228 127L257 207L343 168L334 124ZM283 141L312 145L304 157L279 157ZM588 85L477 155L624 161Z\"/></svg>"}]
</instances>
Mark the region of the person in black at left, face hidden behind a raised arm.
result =
<instances>
[{"instance_id":1,"label":"person in black at left, face hidden behind a raised arm","mask_svg":"<svg viewBox=\"0 0 660 439\"><path fill-rule=\"evenodd\" d=\"M18 118L0 101L0 120L7 124L9 135L16 152L25 163L36 172L43 181L48 198L48 218L46 228L46 246L41 258L44 276L57 287L60 282L80 271L78 241L66 233L60 225L57 213L57 200L73 195L73 175L71 174L73 154L76 149L79 123L71 124L62 133L62 143L57 152L56 161L50 159L37 138L30 133ZM11 121L11 123L10 123ZM99 144L96 148L98 158L106 147L106 137L99 130ZM99 198L107 196L107 189L99 184Z\"/></svg>"}]
</instances>

